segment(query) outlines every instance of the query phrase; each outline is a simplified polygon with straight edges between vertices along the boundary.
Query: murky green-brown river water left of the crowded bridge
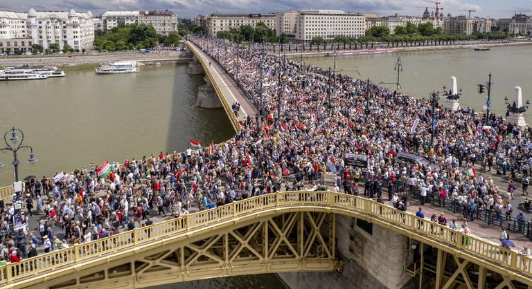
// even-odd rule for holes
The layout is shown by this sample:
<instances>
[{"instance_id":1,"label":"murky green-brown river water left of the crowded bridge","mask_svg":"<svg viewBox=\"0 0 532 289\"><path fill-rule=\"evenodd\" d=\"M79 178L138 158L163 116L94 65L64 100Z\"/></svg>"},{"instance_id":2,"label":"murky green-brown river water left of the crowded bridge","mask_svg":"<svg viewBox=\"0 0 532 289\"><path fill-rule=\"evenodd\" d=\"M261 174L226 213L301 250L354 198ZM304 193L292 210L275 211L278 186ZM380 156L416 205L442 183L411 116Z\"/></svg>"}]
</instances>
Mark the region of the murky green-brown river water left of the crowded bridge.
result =
<instances>
[{"instance_id":1,"label":"murky green-brown river water left of the crowded bridge","mask_svg":"<svg viewBox=\"0 0 532 289\"><path fill-rule=\"evenodd\" d=\"M19 151L19 178L181 151L190 138L204 145L227 140L233 135L227 115L194 106L204 75L187 69L142 66L140 73L96 75L78 68L62 78L0 82L0 132L24 131L39 160L29 165L29 151ZM12 155L0 153L0 160L2 187L13 180Z\"/></svg>"}]
</instances>

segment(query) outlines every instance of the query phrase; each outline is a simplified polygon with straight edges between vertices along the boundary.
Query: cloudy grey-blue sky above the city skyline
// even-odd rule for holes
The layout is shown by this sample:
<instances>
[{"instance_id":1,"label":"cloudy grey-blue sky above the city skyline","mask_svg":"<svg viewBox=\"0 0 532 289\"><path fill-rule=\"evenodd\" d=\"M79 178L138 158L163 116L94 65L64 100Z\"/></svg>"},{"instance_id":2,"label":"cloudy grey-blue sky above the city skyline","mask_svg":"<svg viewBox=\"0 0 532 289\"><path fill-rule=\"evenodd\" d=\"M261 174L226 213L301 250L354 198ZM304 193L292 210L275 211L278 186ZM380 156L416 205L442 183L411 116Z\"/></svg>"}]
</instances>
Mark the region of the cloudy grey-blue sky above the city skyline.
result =
<instances>
[{"instance_id":1,"label":"cloudy grey-blue sky above the city skyline","mask_svg":"<svg viewBox=\"0 0 532 289\"><path fill-rule=\"evenodd\" d=\"M515 12L532 14L532 0L438 0L443 13L509 18ZM265 13L305 9L334 9L347 12L377 13L387 16L422 15L425 7L434 8L428 0L1 0L0 10L27 12L35 10L91 11L97 16L107 10L172 10L178 17L195 17L213 12Z\"/></svg>"}]
</instances>

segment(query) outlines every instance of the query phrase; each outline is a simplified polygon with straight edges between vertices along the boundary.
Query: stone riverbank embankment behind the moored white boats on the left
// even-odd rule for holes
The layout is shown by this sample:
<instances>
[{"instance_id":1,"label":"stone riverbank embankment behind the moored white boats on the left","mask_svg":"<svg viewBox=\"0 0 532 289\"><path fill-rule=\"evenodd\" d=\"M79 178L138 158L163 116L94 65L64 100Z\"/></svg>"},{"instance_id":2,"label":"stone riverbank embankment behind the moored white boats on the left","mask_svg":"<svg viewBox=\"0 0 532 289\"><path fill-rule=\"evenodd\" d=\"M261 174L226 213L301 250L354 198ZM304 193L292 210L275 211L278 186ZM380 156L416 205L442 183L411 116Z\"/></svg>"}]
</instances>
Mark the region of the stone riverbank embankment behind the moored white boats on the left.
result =
<instances>
[{"instance_id":1,"label":"stone riverbank embankment behind the moored white boats on the left","mask_svg":"<svg viewBox=\"0 0 532 289\"><path fill-rule=\"evenodd\" d=\"M97 66L105 62L136 61L145 65L188 63L192 54L182 51L163 51L154 53L92 53L63 55L17 55L0 58L0 66L53 65L65 67Z\"/></svg>"}]
</instances>

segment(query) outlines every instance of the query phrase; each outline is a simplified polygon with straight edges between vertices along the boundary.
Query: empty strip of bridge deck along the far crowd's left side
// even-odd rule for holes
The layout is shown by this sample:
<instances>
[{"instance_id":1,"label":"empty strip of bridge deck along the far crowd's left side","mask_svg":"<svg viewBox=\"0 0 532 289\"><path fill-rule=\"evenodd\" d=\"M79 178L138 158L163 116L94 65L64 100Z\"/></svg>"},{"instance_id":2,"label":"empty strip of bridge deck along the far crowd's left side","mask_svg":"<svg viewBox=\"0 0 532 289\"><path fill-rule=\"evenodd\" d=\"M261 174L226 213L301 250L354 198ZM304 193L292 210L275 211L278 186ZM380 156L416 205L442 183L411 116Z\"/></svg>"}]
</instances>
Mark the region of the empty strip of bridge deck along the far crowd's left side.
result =
<instances>
[{"instance_id":1,"label":"empty strip of bridge deck along the far crowd's left side","mask_svg":"<svg viewBox=\"0 0 532 289\"><path fill-rule=\"evenodd\" d=\"M205 70L209 70L211 72L211 75L213 76L213 80L215 81L220 89L222 90L222 95L218 95L219 97L224 97L229 106L231 104L238 102L240 104L240 112L238 114L238 120L244 121L249 115L251 120L255 120L255 115L257 114L257 110L253 104L251 104L247 98L245 97L244 93L240 91L240 89L236 86L236 83L231 79L231 77L223 70L223 68L218 65L215 60L203 52L200 48L195 46L192 42L187 42L188 47L193 49L194 55L196 57L202 57L204 59L203 63L208 64L209 62L211 65L204 66L203 68ZM229 111L227 113L230 113Z\"/></svg>"}]
</instances>

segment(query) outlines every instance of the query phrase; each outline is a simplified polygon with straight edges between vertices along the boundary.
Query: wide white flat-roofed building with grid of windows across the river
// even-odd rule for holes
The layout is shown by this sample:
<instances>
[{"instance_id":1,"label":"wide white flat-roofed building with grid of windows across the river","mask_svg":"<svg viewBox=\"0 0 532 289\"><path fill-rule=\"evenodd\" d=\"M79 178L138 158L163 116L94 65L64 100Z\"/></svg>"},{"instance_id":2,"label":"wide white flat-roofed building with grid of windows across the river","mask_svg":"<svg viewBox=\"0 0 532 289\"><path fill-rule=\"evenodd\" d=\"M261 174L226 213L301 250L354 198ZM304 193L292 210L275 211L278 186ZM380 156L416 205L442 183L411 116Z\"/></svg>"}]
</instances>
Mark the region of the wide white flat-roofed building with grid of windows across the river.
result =
<instances>
[{"instance_id":1,"label":"wide white flat-roofed building with grid of windows across the river","mask_svg":"<svg viewBox=\"0 0 532 289\"><path fill-rule=\"evenodd\" d=\"M366 17L342 10L301 10L296 21L296 40L324 40L337 36L362 37L366 32Z\"/></svg>"}]
</instances>

